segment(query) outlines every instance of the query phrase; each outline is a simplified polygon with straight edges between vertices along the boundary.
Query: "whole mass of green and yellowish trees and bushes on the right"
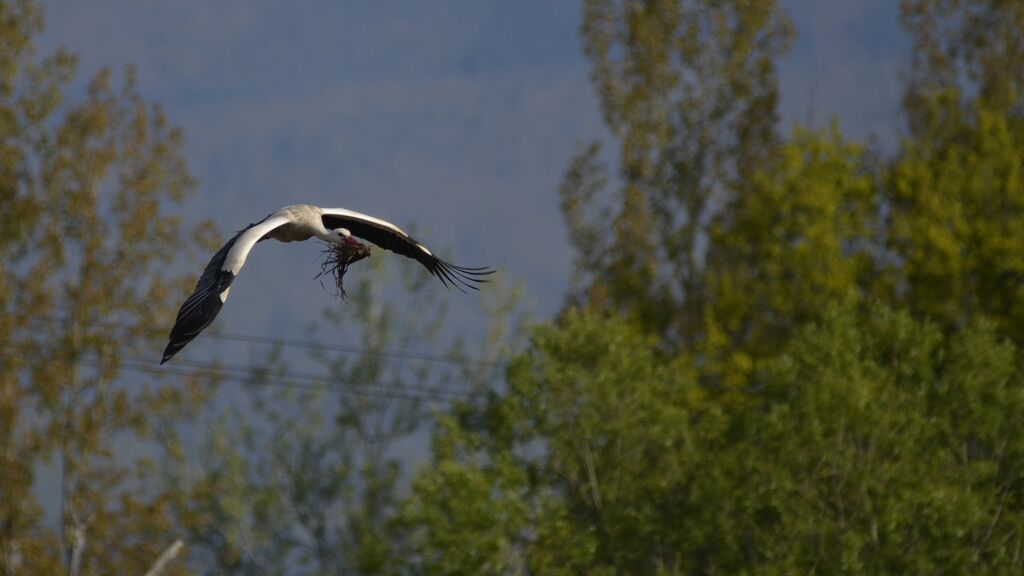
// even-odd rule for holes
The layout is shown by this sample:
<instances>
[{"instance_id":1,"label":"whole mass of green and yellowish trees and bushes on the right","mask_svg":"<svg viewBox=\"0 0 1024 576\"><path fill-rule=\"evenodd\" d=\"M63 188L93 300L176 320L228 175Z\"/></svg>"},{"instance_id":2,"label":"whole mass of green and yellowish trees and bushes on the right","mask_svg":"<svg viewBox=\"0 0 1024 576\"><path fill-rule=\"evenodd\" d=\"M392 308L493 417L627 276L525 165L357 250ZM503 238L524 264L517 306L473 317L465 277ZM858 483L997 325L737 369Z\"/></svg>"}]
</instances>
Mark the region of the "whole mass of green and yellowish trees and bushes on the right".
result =
<instances>
[{"instance_id":1,"label":"whole mass of green and yellowish trees and bushes on the right","mask_svg":"<svg viewBox=\"0 0 1024 576\"><path fill-rule=\"evenodd\" d=\"M586 3L620 171L570 164L573 298L442 419L412 573L1021 571L1022 12L903 7L884 158L774 135L774 3Z\"/></svg>"}]
</instances>

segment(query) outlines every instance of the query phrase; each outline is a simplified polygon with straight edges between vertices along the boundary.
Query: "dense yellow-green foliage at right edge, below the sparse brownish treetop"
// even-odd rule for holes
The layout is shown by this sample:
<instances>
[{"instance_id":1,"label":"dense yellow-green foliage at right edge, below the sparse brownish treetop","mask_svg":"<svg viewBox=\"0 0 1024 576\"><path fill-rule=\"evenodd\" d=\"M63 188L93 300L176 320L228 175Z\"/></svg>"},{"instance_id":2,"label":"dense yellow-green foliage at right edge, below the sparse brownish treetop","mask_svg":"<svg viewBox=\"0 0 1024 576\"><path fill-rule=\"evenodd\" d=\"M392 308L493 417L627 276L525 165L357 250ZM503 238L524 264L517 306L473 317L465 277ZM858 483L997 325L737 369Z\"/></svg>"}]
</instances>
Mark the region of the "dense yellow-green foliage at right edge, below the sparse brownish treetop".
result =
<instances>
[{"instance_id":1,"label":"dense yellow-green foliage at right edge, below the sparse brownish treetop","mask_svg":"<svg viewBox=\"0 0 1024 576\"><path fill-rule=\"evenodd\" d=\"M1024 122L986 109L942 146L907 141L887 174L898 302L950 328L1024 334Z\"/></svg>"}]
</instances>

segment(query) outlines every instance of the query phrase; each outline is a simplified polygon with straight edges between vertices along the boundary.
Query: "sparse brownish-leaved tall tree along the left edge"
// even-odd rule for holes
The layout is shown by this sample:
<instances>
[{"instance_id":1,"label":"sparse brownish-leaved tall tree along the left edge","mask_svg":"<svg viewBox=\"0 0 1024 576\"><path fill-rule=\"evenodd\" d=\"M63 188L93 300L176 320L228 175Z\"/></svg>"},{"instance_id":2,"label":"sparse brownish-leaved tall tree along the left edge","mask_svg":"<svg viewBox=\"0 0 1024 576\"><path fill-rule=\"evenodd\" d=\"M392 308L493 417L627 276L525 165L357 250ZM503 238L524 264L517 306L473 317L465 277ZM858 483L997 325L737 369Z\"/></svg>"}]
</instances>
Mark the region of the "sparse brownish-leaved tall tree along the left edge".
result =
<instances>
[{"instance_id":1,"label":"sparse brownish-leaved tall tree along the left edge","mask_svg":"<svg viewBox=\"0 0 1024 576\"><path fill-rule=\"evenodd\" d=\"M0 2L0 572L142 573L173 541L167 502L119 452L206 389L126 369L156 358L147 328L187 282L168 271L206 228L173 213L194 187L181 133L133 71L68 104L75 58L37 58L41 28L34 2ZM41 502L49 474L59 496Z\"/></svg>"}]
</instances>

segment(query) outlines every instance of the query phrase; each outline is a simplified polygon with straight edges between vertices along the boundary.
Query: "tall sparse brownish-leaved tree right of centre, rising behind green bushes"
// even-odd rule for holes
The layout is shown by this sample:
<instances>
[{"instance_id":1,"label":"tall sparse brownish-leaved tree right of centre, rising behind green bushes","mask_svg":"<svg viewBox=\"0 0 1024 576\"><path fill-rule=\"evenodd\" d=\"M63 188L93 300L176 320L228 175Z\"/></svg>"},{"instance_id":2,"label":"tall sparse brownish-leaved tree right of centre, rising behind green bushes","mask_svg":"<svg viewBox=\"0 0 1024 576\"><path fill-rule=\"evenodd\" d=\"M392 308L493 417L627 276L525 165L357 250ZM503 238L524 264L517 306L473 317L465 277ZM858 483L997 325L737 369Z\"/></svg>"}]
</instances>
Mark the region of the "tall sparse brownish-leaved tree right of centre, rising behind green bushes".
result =
<instances>
[{"instance_id":1,"label":"tall sparse brownish-leaved tree right of centre, rising behind green bushes","mask_svg":"<svg viewBox=\"0 0 1024 576\"><path fill-rule=\"evenodd\" d=\"M775 0L585 3L584 49L618 141L608 190L599 147L561 188L575 298L626 308L676 342L702 329L702 239L716 208L774 153L775 58L792 30Z\"/></svg>"}]
</instances>

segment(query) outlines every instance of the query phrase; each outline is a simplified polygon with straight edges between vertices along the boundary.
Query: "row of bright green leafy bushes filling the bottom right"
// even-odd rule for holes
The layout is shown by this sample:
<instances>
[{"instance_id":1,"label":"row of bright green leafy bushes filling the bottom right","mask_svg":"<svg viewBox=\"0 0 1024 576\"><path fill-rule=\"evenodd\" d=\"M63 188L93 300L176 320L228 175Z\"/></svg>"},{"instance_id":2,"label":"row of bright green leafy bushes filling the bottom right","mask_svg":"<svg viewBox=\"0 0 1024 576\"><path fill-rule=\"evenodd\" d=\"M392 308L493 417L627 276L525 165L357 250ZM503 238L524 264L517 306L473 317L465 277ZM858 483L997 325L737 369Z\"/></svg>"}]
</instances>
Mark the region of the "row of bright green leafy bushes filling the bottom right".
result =
<instances>
[{"instance_id":1,"label":"row of bright green leafy bushes filling the bottom right","mask_svg":"<svg viewBox=\"0 0 1024 576\"><path fill-rule=\"evenodd\" d=\"M539 328L507 394L435 437L412 571L1019 569L1017 348L869 313L801 330L740 403L623 320Z\"/></svg>"}]
</instances>

